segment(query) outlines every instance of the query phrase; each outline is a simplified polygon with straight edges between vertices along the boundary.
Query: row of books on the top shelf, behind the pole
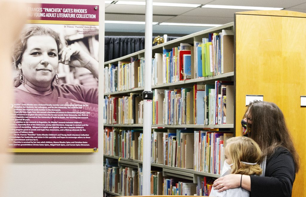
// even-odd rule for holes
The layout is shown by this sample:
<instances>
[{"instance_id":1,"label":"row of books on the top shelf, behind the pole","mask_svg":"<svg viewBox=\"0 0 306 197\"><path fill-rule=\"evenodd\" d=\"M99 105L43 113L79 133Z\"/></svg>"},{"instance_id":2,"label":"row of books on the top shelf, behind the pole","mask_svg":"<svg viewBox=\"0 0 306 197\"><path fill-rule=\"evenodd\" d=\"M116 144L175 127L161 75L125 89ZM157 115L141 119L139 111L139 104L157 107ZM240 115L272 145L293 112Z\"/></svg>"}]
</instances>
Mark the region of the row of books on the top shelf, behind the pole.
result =
<instances>
[{"instance_id":1,"label":"row of books on the top shelf, behind the pole","mask_svg":"<svg viewBox=\"0 0 306 197\"><path fill-rule=\"evenodd\" d=\"M163 53L155 53L151 85L233 72L233 43L233 31L223 29L222 32L209 33L202 42L181 43L178 47L163 49ZM104 91L110 93L143 87L144 65L142 57L105 66Z\"/></svg>"}]
</instances>

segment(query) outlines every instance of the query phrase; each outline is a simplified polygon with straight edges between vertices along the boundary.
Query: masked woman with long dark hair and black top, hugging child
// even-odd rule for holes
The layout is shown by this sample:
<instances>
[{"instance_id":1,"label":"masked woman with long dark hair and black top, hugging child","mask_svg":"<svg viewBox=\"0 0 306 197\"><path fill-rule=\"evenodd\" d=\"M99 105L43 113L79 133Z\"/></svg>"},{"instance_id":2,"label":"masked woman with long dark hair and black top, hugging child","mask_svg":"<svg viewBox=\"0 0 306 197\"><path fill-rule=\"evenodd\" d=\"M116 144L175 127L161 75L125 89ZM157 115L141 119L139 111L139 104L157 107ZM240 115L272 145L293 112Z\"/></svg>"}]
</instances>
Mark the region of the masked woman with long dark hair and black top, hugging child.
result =
<instances>
[{"instance_id":1,"label":"masked woman with long dark hair and black top, hugging child","mask_svg":"<svg viewBox=\"0 0 306 197\"><path fill-rule=\"evenodd\" d=\"M243 134L257 142L263 153L263 173L229 174L215 180L214 189L221 192L241 186L250 191L250 196L291 196L299 156L280 108L270 102L251 102L241 124Z\"/></svg>"}]
</instances>

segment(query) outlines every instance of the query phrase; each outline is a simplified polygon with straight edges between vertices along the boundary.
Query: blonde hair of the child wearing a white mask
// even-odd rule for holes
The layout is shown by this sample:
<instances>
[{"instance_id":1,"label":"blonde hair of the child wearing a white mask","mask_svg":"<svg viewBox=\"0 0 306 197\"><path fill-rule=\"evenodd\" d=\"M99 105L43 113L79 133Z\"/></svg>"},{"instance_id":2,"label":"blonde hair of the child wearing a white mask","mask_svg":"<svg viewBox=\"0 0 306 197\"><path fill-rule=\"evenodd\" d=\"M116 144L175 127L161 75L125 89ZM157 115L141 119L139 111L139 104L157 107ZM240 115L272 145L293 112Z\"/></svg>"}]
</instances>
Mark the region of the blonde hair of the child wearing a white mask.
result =
<instances>
[{"instance_id":1,"label":"blonde hair of the child wearing a white mask","mask_svg":"<svg viewBox=\"0 0 306 197\"><path fill-rule=\"evenodd\" d=\"M233 137L226 141L226 149L229 157L232 159L232 174L244 175L260 175L262 169L258 164L251 165L241 163L241 161L248 163L257 163L261 158L261 150L258 144L248 137Z\"/></svg>"}]
</instances>

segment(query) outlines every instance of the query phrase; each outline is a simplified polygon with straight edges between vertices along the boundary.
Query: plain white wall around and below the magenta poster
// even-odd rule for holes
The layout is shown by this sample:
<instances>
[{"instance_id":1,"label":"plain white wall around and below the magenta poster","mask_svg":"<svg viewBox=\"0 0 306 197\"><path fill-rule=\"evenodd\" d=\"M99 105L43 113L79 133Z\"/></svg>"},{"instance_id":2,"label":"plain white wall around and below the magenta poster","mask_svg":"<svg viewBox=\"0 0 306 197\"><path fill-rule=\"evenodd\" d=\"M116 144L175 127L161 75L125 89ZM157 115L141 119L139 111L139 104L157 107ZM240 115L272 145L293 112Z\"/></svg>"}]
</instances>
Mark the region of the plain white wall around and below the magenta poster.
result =
<instances>
[{"instance_id":1,"label":"plain white wall around and below the magenta poster","mask_svg":"<svg viewBox=\"0 0 306 197\"><path fill-rule=\"evenodd\" d=\"M0 196L103 196L104 0L27 2L99 5L99 152L12 153Z\"/></svg>"}]
</instances>

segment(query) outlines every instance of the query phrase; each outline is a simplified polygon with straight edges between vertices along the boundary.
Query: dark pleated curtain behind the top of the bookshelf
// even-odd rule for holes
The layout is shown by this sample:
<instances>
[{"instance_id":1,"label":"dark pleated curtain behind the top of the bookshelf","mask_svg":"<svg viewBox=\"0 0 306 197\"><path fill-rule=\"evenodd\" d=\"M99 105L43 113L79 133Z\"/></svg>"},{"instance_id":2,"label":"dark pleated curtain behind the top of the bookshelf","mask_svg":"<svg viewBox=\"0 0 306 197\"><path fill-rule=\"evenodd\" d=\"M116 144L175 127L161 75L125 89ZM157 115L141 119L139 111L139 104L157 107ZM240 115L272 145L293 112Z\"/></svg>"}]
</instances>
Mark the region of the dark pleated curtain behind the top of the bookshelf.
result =
<instances>
[{"instance_id":1,"label":"dark pleated curtain behind the top of the bookshelf","mask_svg":"<svg viewBox=\"0 0 306 197\"><path fill-rule=\"evenodd\" d=\"M155 36L152 37L152 42L154 38ZM176 38L179 37L167 36L167 41ZM144 36L105 36L104 41L105 62L144 49Z\"/></svg>"}]
</instances>

